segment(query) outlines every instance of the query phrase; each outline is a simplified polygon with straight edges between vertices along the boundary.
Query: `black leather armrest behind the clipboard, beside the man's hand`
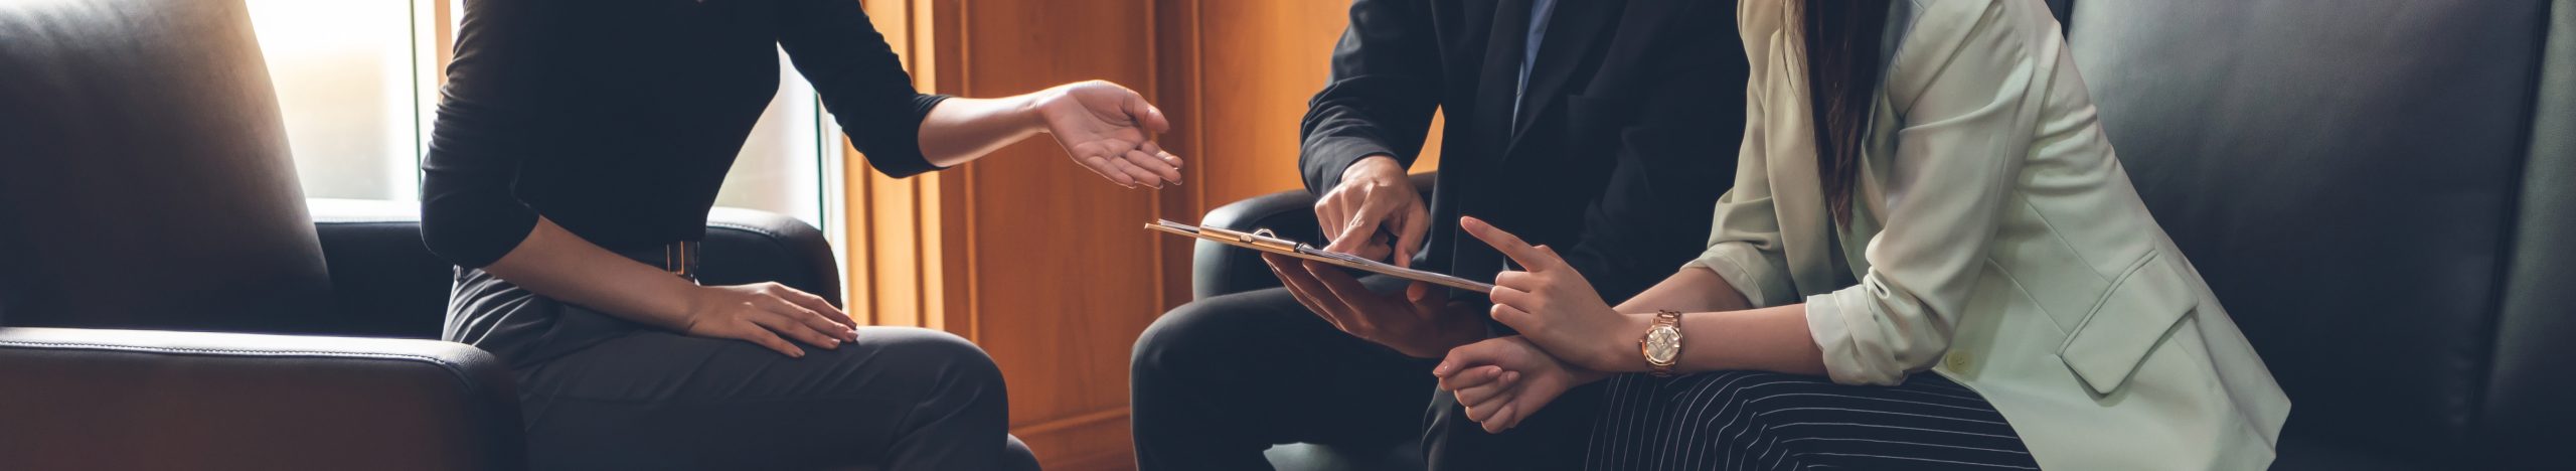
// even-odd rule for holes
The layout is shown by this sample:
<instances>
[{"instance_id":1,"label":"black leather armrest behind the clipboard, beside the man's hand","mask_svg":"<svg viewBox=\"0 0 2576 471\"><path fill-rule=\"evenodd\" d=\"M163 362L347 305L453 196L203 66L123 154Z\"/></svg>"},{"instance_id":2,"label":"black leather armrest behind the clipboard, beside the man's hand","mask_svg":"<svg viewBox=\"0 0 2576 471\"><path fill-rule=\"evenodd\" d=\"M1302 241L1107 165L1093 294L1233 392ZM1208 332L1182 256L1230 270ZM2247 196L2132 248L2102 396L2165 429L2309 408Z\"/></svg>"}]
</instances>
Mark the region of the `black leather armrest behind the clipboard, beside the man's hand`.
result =
<instances>
[{"instance_id":1,"label":"black leather armrest behind the clipboard, beside the man's hand","mask_svg":"<svg viewBox=\"0 0 2576 471\"><path fill-rule=\"evenodd\" d=\"M1417 172L1414 188L1422 190L1422 201L1430 201L1432 183L1440 172ZM1208 211L1200 216L1200 226L1224 229L1270 229L1273 234L1321 242L1321 229L1314 221L1314 193L1306 190L1280 190L1267 196L1252 196ZM1190 299L1211 299L1224 293L1242 293L1257 288L1280 286L1278 275L1262 265L1262 255L1252 250L1236 250L1218 242L1200 239L1190 247Z\"/></svg>"}]
</instances>

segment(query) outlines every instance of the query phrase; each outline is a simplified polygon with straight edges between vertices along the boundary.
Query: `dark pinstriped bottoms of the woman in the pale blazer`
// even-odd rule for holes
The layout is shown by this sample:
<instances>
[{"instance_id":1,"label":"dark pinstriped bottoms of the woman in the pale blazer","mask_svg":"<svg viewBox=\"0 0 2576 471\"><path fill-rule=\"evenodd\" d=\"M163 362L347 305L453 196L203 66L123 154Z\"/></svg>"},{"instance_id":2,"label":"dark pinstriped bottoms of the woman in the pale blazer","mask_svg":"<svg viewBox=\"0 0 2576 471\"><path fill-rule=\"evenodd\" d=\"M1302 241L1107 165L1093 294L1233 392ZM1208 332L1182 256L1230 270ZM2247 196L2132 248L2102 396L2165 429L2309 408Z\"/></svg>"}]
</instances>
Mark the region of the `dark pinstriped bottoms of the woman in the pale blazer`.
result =
<instances>
[{"instance_id":1,"label":"dark pinstriped bottoms of the woman in the pale blazer","mask_svg":"<svg viewBox=\"0 0 2576 471\"><path fill-rule=\"evenodd\" d=\"M1625 468L2038 468L1984 396L1937 373L1899 386L1721 371L1615 376L1584 466Z\"/></svg>"}]
</instances>

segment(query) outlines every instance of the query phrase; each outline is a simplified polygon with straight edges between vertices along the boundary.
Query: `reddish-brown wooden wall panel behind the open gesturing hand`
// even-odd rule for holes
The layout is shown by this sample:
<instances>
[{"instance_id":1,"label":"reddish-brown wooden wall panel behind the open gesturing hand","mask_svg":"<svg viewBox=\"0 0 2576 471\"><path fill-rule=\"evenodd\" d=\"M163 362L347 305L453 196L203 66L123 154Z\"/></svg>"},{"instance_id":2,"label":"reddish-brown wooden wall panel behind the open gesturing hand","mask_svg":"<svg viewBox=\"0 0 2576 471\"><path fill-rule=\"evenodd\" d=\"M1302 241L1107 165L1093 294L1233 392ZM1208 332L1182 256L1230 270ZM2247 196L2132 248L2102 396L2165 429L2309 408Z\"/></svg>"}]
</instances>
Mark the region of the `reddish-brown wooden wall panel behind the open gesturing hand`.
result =
<instances>
[{"instance_id":1,"label":"reddish-brown wooden wall panel behind the open gesturing hand","mask_svg":"<svg viewBox=\"0 0 2576 471\"><path fill-rule=\"evenodd\" d=\"M948 18L956 46L938 51L958 54L938 67L956 77L943 93L1018 95L1077 80L1151 93L1151 3L958 0ZM938 183L961 196L940 201L940 216L956 221L938 229L963 232L945 250L963 255L948 260L963 268L963 286L943 291L971 299L948 329L971 329L1002 363L1015 386L1012 430L1054 468L1128 463L1126 358L1164 309L1159 239L1139 229L1159 216L1154 190L1110 185L1046 139Z\"/></svg>"}]
</instances>

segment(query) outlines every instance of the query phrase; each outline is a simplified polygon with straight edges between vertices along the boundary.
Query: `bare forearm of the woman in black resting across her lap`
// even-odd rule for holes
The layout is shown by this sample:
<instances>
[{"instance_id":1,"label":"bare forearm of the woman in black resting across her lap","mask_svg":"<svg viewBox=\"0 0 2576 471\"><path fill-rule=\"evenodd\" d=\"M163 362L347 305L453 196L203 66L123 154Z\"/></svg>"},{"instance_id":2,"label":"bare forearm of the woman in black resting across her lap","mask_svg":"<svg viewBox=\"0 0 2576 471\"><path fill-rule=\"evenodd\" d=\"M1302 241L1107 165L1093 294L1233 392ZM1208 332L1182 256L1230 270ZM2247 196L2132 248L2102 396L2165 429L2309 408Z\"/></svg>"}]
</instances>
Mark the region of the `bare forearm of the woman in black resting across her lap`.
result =
<instances>
[{"instance_id":1,"label":"bare forearm of the woman in black resting across her lap","mask_svg":"<svg viewBox=\"0 0 2576 471\"><path fill-rule=\"evenodd\" d=\"M662 268L590 245L549 219L536 219L528 239L484 265L484 273L546 299L665 329L688 327L688 293L698 288Z\"/></svg>"}]
</instances>

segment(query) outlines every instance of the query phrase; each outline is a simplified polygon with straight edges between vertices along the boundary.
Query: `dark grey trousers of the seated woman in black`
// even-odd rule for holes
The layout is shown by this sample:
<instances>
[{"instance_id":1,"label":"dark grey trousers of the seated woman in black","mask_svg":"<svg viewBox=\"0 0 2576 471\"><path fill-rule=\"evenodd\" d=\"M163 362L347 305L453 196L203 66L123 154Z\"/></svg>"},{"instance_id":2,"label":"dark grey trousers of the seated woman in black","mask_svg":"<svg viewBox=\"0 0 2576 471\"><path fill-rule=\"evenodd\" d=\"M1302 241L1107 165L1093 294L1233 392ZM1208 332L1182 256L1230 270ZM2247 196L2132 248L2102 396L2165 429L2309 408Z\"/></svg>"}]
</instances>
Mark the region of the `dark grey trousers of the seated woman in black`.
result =
<instances>
[{"instance_id":1,"label":"dark grey trousers of the seated woman in black","mask_svg":"<svg viewBox=\"0 0 2576 471\"><path fill-rule=\"evenodd\" d=\"M484 317L618 324L482 270L461 270L456 293L461 309L510 309ZM1002 371L956 335L860 327L858 342L788 358L629 327L556 332L600 340L518 368L533 468L1038 468L1007 435ZM520 332L544 329L495 335Z\"/></svg>"}]
</instances>

